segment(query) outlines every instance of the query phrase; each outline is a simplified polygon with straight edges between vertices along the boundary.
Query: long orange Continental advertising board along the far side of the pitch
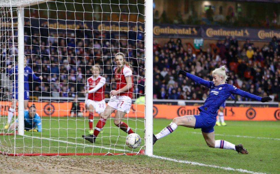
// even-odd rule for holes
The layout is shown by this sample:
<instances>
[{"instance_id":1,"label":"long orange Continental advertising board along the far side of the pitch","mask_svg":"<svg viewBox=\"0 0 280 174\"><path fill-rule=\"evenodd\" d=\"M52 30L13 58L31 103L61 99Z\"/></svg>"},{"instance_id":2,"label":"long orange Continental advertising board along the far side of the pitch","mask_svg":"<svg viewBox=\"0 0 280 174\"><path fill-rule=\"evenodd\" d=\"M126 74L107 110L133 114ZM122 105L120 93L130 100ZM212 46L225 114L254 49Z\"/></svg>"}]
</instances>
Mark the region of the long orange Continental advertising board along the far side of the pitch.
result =
<instances>
[{"instance_id":1,"label":"long orange Continental advertising board along the far side of the pitch","mask_svg":"<svg viewBox=\"0 0 280 174\"><path fill-rule=\"evenodd\" d=\"M37 113L40 116L70 116L72 102L29 102L29 106L35 104ZM11 102L1 102L1 115L8 115L8 109ZM79 103L84 116L88 116L88 111L85 112L84 102ZM185 115L197 115L199 106L176 106L176 105L153 105L154 118L173 119ZM144 105L132 104L129 114L130 118L144 118ZM17 113L16 113L17 114ZM277 107L225 107L225 120L244 120L244 121L279 121L280 108ZM98 114L94 114L98 116ZM112 114L114 116L114 113Z\"/></svg>"}]
</instances>

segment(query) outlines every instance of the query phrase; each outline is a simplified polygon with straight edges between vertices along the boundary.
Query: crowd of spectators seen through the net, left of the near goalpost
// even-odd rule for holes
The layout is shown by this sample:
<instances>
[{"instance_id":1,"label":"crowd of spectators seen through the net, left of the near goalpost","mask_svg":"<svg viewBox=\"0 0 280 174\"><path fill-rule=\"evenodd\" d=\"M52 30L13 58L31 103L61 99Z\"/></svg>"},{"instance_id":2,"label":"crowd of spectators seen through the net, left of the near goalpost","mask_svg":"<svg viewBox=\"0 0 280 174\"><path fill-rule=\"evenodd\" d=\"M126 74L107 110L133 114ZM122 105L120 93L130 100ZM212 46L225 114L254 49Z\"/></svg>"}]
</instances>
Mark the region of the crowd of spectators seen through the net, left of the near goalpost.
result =
<instances>
[{"instance_id":1,"label":"crowd of spectators seen through the net, left of the near goalpost","mask_svg":"<svg viewBox=\"0 0 280 174\"><path fill-rule=\"evenodd\" d=\"M129 56L133 65L134 84L137 84L134 93L144 92L144 42L141 32L126 32L124 35L129 40L119 40L114 33L84 32L83 28L68 35L59 34L58 37L48 35L47 26L40 28L43 37L42 34L39 37L39 32L30 30L32 28L28 24L25 28L25 31L30 31L25 32L27 64L32 66L33 72L42 73L43 77L42 85L36 82L30 85L33 96L83 97L86 79L92 75L90 69L92 65L99 64L103 69L101 74L106 78L105 97L109 97L109 92L116 87L112 78L116 64L111 57L119 51ZM136 95L133 97L136 98Z\"/></svg>"}]
</instances>

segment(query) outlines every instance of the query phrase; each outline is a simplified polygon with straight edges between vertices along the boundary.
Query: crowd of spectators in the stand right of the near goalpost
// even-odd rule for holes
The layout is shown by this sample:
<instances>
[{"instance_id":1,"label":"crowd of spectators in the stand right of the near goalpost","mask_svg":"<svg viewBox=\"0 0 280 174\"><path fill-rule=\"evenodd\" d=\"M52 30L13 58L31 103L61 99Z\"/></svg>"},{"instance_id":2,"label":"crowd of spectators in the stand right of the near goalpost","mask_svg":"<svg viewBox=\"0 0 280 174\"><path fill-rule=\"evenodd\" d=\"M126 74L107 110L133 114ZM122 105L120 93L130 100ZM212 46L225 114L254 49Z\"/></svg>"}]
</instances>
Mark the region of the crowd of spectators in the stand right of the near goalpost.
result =
<instances>
[{"instance_id":1,"label":"crowd of spectators in the stand right of the near goalpost","mask_svg":"<svg viewBox=\"0 0 280 174\"><path fill-rule=\"evenodd\" d=\"M226 65L228 83L259 96L272 95L280 100L280 52L276 37L269 45L255 47L249 40L239 45L234 37L216 43L212 53L201 49L184 50L180 39L170 39L163 45L154 41L154 98L205 100L209 90L190 79L178 77L183 69L203 79L212 80L212 70ZM237 98L237 100L250 100Z\"/></svg>"}]
</instances>

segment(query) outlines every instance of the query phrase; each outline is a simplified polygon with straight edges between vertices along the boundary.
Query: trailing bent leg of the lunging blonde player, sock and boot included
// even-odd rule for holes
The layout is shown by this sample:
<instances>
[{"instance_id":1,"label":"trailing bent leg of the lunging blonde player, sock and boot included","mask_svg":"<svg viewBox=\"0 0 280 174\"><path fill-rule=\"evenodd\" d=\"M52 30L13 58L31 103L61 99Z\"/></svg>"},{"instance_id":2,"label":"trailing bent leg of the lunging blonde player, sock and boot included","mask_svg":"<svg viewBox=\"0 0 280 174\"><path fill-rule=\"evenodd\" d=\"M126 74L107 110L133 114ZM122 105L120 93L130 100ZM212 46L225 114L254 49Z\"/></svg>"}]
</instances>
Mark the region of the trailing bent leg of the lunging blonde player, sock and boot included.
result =
<instances>
[{"instance_id":1,"label":"trailing bent leg of the lunging blonde player, sock and boot included","mask_svg":"<svg viewBox=\"0 0 280 174\"><path fill-rule=\"evenodd\" d=\"M215 132L205 133L202 132L202 135L205 139L206 144L210 148L221 148L221 149L232 149L236 150L238 153L248 154L247 150L243 148L242 144L234 145L225 140L215 140Z\"/></svg>"}]
</instances>

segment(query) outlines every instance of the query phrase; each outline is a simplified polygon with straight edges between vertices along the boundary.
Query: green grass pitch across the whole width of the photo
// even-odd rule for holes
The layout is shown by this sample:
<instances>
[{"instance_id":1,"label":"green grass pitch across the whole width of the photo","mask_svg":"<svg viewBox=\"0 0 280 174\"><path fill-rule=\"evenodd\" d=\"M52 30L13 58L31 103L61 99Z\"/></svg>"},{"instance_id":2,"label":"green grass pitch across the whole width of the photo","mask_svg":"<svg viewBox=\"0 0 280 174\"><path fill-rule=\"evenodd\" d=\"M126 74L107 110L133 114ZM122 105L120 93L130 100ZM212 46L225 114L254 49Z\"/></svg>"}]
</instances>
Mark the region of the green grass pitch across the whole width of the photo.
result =
<instances>
[{"instance_id":1,"label":"green grass pitch across the whole width of the photo","mask_svg":"<svg viewBox=\"0 0 280 174\"><path fill-rule=\"evenodd\" d=\"M95 118L94 125L96 125L97 119ZM128 120L128 125L133 129L137 125L136 133L141 137L144 136L143 121L143 119ZM168 119L154 119L154 133L161 131L170 122L171 120ZM131 152L131 149L124 145L126 134L113 124L113 120L111 122L107 121L102 138L96 139L95 146L97 147L92 147L93 144L81 138L81 135L87 134L88 128L88 122L83 118L52 117L50 120L49 117L42 117L42 127L42 133L25 132L25 135L28 136L25 138L16 135L16 152L22 153L24 150L25 153L123 153L124 149ZM220 167L241 168L253 172L280 172L280 122L227 121L227 126L216 126L214 129L215 139L223 139L233 144L242 143L249 154L243 155L233 150L209 148L201 135L200 129L178 127L176 131L156 142L153 146L154 155ZM44 137L44 139L31 138L31 136ZM101 134L99 137L101 137ZM13 147L12 150L14 150L13 135L1 135L0 140L2 145ZM143 140L141 145L144 145ZM101 146L102 148L100 148ZM119 151L119 149L122 149L122 151ZM139 148L134 152L138 150ZM108 158L114 161L131 163L131 165L144 163L145 165L151 165L153 168L162 168L175 173L240 173L238 171L170 162L148 156L71 156L69 158Z\"/></svg>"}]
</instances>

